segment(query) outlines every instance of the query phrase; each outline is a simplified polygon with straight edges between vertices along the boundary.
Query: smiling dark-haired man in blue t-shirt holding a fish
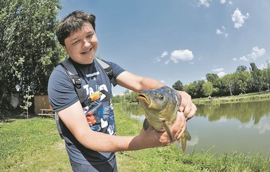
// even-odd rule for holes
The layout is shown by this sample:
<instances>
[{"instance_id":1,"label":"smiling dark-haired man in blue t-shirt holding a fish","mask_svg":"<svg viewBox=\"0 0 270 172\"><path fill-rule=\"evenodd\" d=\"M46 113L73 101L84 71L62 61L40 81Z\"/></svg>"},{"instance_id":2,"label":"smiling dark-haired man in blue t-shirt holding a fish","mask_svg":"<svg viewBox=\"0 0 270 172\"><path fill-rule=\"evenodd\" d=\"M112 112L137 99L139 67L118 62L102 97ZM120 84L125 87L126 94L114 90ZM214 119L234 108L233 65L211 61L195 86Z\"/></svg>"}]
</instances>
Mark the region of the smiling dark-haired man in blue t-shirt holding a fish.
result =
<instances>
[{"instance_id":1,"label":"smiling dark-haired man in blue t-shirt holding a fish","mask_svg":"<svg viewBox=\"0 0 270 172\"><path fill-rule=\"evenodd\" d=\"M167 133L153 128L135 136L116 135L112 106L112 85L106 72L94 58L98 41L95 34L95 15L74 11L58 25L56 35L76 70L86 103L79 102L72 81L61 65L55 67L48 81L48 95L53 110L60 117L67 154L73 171L117 171L114 152L141 150L170 145ZM114 62L107 62L120 86L132 91L160 88L164 84L132 74ZM186 126L186 118L196 112L191 97L182 91L184 115L178 113L171 131L179 139Z\"/></svg>"}]
</instances>

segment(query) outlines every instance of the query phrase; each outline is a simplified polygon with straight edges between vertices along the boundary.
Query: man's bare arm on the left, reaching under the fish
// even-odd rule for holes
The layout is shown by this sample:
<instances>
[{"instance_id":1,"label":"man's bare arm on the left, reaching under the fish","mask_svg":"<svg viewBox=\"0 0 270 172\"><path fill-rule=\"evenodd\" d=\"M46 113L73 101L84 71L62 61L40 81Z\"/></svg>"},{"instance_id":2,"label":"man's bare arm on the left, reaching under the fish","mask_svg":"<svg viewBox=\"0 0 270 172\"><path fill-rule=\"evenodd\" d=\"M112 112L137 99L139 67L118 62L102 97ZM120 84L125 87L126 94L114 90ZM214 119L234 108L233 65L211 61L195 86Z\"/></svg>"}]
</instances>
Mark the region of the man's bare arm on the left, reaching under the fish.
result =
<instances>
[{"instance_id":1,"label":"man's bare arm on the left, reaching under the fish","mask_svg":"<svg viewBox=\"0 0 270 172\"><path fill-rule=\"evenodd\" d=\"M140 134L136 136L108 135L92 131L86 121L79 101L64 110L60 110L58 115L75 138L83 146L91 150L118 152L170 145L170 140L166 132L158 133L151 127L147 131L142 129ZM184 116L179 116L179 118L182 118L182 120L178 120L177 124L172 126L175 131L177 131L179 126L182 128L185 127Z\"/></svg>"}]
</instances>

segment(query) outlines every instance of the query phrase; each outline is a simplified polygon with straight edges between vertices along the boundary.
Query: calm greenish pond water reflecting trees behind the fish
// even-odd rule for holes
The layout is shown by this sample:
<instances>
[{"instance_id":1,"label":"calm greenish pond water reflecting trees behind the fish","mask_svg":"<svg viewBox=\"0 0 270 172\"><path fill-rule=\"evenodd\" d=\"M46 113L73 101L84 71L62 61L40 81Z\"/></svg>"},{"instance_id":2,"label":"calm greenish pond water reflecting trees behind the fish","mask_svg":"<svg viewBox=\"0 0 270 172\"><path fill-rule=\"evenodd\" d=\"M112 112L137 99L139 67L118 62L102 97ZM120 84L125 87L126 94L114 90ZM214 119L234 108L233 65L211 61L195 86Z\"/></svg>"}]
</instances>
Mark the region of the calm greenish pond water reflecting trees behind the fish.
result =
<instances>
[{"instance_id":1,"label":"calm greenish pond water reflecting trees behind the fish","mask_svg":"<svg viewBox=\"0 0 270 172\"><path fill-rule=\"evenodd\" d=\"M270 100L220 105L197 105L195 116L187 121L191 140L187 153L224 154L243 152L270 155ZM138 105L124 107L131 118L144 121Z\"/></svg>"}]
</instances>

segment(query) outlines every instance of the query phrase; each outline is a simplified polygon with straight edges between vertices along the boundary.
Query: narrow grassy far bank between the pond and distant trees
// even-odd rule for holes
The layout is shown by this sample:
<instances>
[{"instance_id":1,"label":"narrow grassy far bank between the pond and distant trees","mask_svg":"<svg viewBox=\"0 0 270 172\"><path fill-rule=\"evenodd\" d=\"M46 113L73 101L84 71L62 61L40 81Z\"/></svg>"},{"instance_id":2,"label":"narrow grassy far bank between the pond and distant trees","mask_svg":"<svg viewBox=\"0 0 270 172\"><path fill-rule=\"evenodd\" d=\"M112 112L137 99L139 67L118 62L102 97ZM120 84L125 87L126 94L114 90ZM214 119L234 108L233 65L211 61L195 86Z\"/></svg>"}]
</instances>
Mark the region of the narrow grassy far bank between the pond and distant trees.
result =
<instances>
[{"instance_id":1,"label":"narrow grassy far bank between the pond and distant trees","mask_svg":"<svg viewBox=\"0 0 270 172\"><path fill-rule=\"evenodd\" d=\"M231 103L231 102L249 102L249 101L259 101L259 100L270 100L269 91L266 91L264 93L248 93L248 94L234 95L234 96L192 99L192 101L196 105Z\"/></svg>"}]
</instances>

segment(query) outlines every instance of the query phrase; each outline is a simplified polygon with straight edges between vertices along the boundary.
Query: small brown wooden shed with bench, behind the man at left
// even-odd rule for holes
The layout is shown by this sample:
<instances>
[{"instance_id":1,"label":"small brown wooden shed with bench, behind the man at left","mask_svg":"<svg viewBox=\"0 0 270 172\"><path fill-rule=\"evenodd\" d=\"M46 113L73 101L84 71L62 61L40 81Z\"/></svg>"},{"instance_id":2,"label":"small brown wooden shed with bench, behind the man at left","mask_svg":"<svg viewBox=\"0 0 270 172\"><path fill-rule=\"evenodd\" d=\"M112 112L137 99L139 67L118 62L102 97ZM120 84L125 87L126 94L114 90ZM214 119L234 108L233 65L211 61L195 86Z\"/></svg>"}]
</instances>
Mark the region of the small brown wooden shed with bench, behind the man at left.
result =
<instances>
[{"instance_id":1,"label":"small brown wooden shed with bench, behind the man at left","mask_svg":"<svg viewBox=\"0 0 270 172\"><path fill-rule=\"evenodd\" d=\"M34 113L41 115L41 117L45 115L54 115L48 100L48 95L34 95Z\"/></svg>"}]
</instances>

